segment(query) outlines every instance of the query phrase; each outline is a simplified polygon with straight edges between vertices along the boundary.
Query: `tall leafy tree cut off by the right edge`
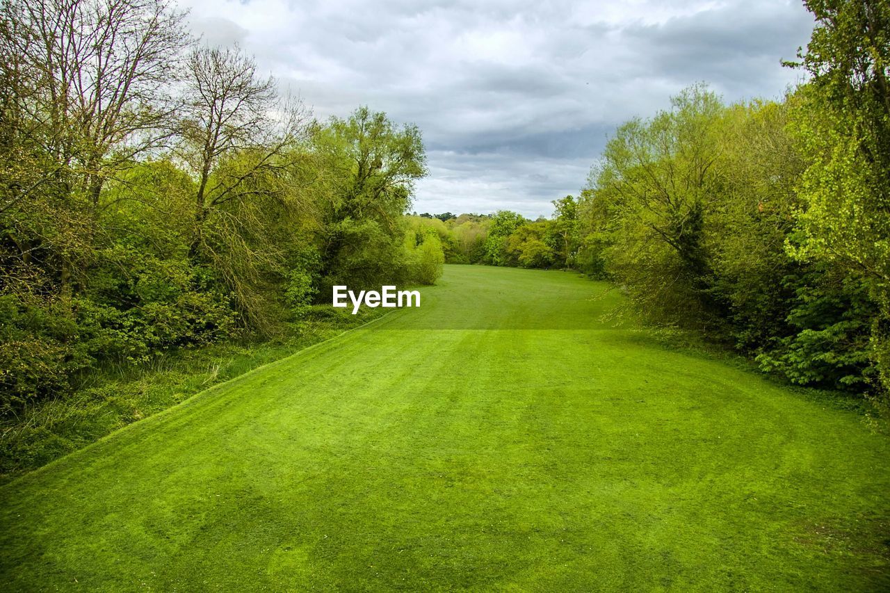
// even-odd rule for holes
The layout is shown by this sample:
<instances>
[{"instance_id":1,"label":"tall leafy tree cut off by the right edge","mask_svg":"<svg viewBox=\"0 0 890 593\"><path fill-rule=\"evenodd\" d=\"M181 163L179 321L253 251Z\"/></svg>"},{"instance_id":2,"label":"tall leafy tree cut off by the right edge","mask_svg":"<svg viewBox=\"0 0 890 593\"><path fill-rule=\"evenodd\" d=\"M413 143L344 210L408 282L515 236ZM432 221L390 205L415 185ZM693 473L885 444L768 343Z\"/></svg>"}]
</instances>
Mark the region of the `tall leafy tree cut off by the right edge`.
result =
<instances>
[{"instance_id":1,"label":"tall leafy tree cut off by the right edge","mask_svg":"<svg viewBox=\"0 0 890 593\"><path fill-rule=\"evenodd\" d=\"M890 4L807 0L816 18L800 61L793 130L810 160L800 184L805 208L798 259L862 273L879 311L873 356L890 387Z\"/></svg>"}]
</instances>

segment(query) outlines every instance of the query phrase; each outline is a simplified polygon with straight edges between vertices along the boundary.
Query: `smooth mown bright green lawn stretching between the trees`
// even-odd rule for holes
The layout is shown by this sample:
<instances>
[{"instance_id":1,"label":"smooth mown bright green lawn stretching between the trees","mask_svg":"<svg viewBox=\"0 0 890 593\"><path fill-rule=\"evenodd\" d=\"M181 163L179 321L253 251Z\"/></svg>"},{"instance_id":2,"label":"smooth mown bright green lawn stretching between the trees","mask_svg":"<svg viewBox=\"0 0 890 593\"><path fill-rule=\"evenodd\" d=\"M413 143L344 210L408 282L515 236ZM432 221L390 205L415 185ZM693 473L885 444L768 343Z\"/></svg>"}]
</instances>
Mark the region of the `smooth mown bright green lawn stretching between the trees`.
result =
<instances>
[{"instance_id":1,"label":"smooth mown bright green lawn stretching between the trees","mask_svg":"<svg viewBox=\"0 0 890 593\"><path fill-rule=\"evenodd\" d=\"M601 321L574 274L423 306L0 489L0 589L879 590L890 442Z\"/></svg>"}]
</instances>

